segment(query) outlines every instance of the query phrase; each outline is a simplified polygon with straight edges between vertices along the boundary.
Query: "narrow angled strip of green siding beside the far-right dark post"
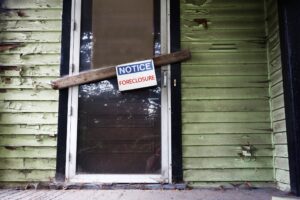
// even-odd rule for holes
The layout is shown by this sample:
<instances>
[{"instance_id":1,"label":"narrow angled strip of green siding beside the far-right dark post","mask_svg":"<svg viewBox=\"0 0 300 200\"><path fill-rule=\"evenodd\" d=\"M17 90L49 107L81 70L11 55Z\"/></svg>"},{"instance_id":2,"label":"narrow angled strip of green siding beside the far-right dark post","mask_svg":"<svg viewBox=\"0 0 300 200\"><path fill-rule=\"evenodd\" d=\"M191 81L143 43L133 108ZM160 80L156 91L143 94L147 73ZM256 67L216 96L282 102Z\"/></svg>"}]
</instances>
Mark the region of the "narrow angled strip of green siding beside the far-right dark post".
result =
<instances>
[{"instance_id":1,"label":"narrow angled strip of green siding beside the far-right dark post","mask_svg":"<svg viewBox=\"0 0 300 200\"><path fill-rule=\"evenodd\" d=\"M289 191L290 177L285 127L285 109L282 85L278 9L276 0L266 0L268 60L271 91L271 117L275 148L274 170L278 188Z\"/></svg>"}]
</instances>

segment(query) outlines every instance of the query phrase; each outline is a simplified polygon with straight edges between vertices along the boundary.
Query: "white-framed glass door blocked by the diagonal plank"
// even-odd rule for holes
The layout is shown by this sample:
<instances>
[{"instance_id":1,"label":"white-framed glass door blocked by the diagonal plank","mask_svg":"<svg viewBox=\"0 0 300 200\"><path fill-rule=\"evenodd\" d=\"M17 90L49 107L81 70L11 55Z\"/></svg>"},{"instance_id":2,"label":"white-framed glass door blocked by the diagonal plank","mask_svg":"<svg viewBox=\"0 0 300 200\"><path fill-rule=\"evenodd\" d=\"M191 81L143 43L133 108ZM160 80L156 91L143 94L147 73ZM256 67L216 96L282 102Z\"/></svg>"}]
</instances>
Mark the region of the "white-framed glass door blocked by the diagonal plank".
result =
<instances>
[{"instance_id":1,"label":"white-framed glass door blocked by the diagonal plank","mask_svg":"<svg viewBox=\"0 0 300 200\"><path fill-rule=\"evenodd\" d=\"M70 74L168 53L165 0L75 0ZM170 182L169 67L155 87L116 78L70 88L70 182Z\"/></svg>"}]
</instances>

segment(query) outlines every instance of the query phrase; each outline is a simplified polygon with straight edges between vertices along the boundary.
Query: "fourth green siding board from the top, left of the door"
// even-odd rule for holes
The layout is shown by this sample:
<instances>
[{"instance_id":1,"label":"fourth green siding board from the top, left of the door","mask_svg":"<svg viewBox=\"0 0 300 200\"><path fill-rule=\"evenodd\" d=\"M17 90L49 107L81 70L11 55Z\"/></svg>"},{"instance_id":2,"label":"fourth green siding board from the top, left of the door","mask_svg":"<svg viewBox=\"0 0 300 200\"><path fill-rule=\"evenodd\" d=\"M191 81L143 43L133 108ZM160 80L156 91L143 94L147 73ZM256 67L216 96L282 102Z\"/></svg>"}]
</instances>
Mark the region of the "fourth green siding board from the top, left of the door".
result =
<instances>
[{"instance_id":1,"label":"fourth green siding board from the top, left of the door","mask_svg":"<svg viewBox=\"0 0 300 200\"><path fill-rule=\"evenodd\" d=\"M0 32L2 42L61 42L61 32Z\"/></svg>"}]
</instances>

